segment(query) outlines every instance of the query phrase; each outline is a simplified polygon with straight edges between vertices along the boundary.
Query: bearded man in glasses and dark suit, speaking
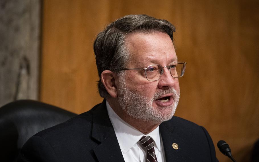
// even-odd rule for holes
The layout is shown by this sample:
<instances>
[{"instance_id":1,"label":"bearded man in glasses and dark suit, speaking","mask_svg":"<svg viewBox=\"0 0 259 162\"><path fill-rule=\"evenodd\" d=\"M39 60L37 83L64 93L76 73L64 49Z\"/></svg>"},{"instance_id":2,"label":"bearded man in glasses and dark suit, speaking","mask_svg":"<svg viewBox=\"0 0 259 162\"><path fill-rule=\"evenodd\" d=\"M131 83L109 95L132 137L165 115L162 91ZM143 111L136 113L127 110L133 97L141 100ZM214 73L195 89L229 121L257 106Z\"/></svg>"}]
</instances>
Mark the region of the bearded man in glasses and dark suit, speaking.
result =
<instances>
[{"instance_id":1,"label":"bearded man in glasses and dark suit, speaking","mask_svg":"<svg viewBox=\"0 0 259 162\"><path fill-rule=\"evenodd\" d=\"M31 137L19 161L217 161L207 131L173 117L185 62L175 27L127 15L94 42L101 104Z\"/></svg>"}]
</instances>

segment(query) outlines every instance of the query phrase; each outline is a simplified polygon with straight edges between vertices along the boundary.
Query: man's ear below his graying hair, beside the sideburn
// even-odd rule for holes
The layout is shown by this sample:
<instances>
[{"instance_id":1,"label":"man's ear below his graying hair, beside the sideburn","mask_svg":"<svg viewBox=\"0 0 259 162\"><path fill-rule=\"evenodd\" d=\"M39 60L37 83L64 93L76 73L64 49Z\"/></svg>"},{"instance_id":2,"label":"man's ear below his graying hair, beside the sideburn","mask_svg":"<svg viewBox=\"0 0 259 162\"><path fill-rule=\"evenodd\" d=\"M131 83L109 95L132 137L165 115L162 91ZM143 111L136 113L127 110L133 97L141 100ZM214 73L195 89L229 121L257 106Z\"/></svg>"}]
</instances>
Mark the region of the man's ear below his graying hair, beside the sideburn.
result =
<instances>
[{"instance_id":1,"label":"man's ear below his graying hair, beside the sideburn","mask_svg":"<svg viewBox=\"0 0 259 162\"><path fill-rule=\"evenodd\" d=\"M101 81L111 97L117 98L117 86L115 84L116 74L110 70L104 70L101 74Z\"/></svg>"}]
</instances>

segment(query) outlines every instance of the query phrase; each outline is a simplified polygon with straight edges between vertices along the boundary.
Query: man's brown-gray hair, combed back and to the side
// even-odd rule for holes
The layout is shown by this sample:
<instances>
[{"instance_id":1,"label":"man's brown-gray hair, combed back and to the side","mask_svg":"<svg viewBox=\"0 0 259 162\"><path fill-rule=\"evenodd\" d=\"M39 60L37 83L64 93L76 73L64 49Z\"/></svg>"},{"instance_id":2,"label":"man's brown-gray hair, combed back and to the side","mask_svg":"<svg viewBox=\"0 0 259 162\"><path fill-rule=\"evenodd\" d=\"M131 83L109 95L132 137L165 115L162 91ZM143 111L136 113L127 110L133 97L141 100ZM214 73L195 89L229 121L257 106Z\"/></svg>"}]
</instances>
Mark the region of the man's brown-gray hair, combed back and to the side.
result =
<instances>
[{"instance_id":1,"label":"man's brown-gray hair, combed back and to the side","mask_svg":"<svg viewBox=\"0 0 259 162\"><path fill-rule=\"evenodd\" d=\"M155 31L167 33L173 41L174 25L148 15L126 15L107 25L97 35L93 45L99 78L104 70L121 73L120 69L125 68L130 61L130 52L125 43L127 34ZM101 97L110 97L100 79L98 90Z\"/></svg>"}]
</instances>

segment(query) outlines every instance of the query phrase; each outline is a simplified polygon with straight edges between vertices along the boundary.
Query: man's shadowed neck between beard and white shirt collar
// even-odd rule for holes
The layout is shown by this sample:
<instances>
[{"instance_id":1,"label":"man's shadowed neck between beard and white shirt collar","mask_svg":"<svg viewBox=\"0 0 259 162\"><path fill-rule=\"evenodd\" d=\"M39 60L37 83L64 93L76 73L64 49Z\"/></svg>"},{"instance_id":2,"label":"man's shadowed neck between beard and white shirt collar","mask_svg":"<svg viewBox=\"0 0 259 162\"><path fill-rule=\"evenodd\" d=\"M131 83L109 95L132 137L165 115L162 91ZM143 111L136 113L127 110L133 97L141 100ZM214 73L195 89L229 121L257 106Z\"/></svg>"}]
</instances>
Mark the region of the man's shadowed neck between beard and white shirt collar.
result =
<instances>
[{"instance_id":1,"label":"man's shadowed neck between beard and white shirt collar","mask_svg":"<svg viewBox=\"0 0 259 162\"><path fill-rule=\"evenodd\" d=\"M112 110L124 121L128 124L139 130L143 134L148 134L154 129L156 129L161 122L155 121L143 121L140 119L135 119L132 116L129 116L127 112L120 108L118 102L112 102L112 99L107 99L109 105L111 106Z\"/></svg>"}]
</instances>

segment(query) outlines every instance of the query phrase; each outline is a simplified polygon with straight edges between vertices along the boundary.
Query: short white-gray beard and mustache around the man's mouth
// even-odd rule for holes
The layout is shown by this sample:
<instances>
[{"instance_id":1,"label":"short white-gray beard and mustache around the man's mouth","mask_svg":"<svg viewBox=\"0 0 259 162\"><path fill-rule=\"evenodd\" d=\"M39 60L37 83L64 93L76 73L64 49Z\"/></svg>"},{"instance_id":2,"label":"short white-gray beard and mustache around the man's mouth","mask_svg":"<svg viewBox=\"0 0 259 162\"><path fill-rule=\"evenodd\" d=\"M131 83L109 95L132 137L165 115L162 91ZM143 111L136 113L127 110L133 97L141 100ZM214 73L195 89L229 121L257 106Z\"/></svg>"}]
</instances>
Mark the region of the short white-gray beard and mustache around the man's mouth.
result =
<instances>
[{"instance_id":1,"label":"short white-gray beard and mustache around the man's mouth","mask_svg":"<svg viewBox=\"0 0 259 162\"><path fill-rule=\"evenodd\" d=\"M154 108L152 106L153 102L165 94L173 94L171 100L174 100L174 104L167 107L158 106ZM148 99L138 92L131 91L126 86L124 76L120 77L118 83L118 103L120 107L127 112L128 115L143 121L163 122L170 120L174 116L179 98L180 93L174 88L156 92L151 99Z\"/></svg>"}]
</instances>

